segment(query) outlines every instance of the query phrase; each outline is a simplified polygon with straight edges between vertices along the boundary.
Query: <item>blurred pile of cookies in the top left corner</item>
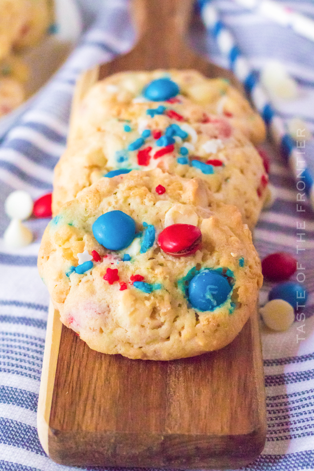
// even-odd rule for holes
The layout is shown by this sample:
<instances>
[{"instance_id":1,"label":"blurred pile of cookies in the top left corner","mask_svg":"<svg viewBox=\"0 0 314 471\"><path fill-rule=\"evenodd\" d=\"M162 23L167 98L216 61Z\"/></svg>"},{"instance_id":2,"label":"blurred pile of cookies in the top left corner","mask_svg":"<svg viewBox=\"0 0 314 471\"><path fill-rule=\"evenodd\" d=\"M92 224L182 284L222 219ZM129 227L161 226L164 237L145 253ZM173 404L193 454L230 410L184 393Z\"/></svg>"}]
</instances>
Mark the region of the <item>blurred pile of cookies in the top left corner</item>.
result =
<instances>
[{"instance_id":1,"label":"blurred pile of cookies in the top left corner","mask_svg":"<svg viewBox=\"0 0 314 471\"><path fill-rule=\"evenodd\" d=\"M0 1L0 117L24 101L28 69L19 53L47 34L51 10L49 0Z\"/></svg>"}]
</instances>

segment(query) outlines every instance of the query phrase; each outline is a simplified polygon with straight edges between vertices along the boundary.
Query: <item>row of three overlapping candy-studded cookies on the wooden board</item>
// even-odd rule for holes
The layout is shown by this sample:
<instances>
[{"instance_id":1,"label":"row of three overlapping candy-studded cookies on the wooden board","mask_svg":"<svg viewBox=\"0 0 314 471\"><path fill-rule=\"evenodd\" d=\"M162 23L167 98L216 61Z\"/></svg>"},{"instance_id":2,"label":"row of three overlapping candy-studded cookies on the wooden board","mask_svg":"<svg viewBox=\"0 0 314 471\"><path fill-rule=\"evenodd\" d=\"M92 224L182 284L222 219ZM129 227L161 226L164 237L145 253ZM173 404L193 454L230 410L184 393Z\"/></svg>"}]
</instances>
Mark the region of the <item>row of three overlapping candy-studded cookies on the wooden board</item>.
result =
<instances>
[{"instance_id":1,"label":"row of three overlapping candy-studded cookies on the wooden board","mask_svg":"<svg viewBox=\"0 0 314 471\"><path fill-rule=\"evenodd\" d=\"M155 71L99 81L73 123L39 253L62 322L129 358L227 345L262 284L261 118L225 80Z\"/></svg>"}]
</instances>

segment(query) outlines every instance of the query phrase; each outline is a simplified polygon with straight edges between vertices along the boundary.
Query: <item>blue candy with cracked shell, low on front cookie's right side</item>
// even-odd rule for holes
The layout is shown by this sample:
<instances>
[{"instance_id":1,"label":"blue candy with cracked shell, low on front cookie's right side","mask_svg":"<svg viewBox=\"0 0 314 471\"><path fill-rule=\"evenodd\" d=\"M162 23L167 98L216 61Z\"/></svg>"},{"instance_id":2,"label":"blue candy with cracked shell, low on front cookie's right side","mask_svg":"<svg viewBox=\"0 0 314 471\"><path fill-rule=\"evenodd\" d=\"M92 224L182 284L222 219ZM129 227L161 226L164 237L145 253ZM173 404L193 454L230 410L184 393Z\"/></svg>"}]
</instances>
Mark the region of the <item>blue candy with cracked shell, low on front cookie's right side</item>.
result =
<instances>
[{"instance_id":1,"label":"blue candy with cracked shell, low on front cookie's right side","mask_svg":"<svg viewBox=\"0 0 314 471\"><path fill-rule=\"evenodd\" d=\"M227 279L215 271L203 270L195 275L188 288L193 308L212 311L225 302L231 286Z\"/></svg>"}]
</instances>

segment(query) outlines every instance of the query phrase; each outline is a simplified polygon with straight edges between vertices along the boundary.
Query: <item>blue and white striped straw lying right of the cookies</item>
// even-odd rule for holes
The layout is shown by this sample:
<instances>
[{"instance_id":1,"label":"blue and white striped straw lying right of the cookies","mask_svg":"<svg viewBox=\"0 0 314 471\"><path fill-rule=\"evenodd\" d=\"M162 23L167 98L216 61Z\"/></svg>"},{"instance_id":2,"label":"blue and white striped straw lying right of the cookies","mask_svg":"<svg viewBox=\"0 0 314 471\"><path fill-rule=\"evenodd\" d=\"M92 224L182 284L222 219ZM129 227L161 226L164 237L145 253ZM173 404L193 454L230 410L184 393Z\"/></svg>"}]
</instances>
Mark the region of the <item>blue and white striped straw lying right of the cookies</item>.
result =
<instances>
[{"instance_id":1,"label":"blue and white striped straw lying right of the cookies","mask_svg":"<svg viewBox=\"0 0 314 471\"><path fill-rule=\"evenodd\" d=\"M287 132L286 124L276 114L269 97L259 83L257 74L246 57L242 55L233 34L221 22L216 8L210 2L211 0L199 1L201 18L206 28L216 39L221 54L228 60L228 68L243 84L258 112L262 115L276 146L284 160L289 163L295 178L302 179L304 182L304 191L314 208L314 161L310 162L305 157L304 138L300 136L297 145L295 144Z\"/></svg>"}]
</instances>

